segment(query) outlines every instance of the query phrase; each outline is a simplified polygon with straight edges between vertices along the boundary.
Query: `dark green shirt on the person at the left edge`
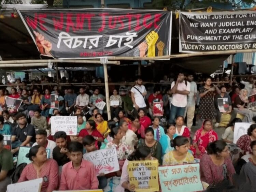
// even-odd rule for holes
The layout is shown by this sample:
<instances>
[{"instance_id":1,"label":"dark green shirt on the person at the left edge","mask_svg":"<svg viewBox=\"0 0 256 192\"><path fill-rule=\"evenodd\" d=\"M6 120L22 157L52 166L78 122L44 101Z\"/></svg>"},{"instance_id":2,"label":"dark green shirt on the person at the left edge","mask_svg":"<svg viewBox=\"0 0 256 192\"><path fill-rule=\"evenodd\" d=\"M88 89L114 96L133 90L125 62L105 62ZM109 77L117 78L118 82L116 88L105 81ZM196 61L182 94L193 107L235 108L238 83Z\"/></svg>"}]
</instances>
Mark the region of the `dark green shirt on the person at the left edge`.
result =
<instances>
[{"instance_id":1,"label":"dark green shirt on the person at the left edge","mask_svg":"<svg viewBox=\"0 0 256 192\"><path fill-rule=\"evenodd\" d=\"M0 152L0 169L7 172L13 169L12 153L5 148Z\"/></svg>"}]
</instances>

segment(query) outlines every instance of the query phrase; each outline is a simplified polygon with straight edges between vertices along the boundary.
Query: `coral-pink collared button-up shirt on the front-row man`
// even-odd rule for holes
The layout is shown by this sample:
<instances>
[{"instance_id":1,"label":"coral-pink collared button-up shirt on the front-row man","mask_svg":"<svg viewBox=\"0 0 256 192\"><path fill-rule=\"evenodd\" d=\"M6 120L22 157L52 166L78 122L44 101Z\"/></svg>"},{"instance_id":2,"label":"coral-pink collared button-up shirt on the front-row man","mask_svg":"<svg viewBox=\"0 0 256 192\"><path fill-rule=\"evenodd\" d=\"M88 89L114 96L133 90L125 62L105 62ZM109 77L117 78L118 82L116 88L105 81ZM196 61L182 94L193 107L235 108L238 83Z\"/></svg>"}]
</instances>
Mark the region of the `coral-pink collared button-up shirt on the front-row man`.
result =
<instances>
[{"instance_id":1,"label":"coral-pink collared button-up shirt on the front-row man","mask_svg":"<svg viewBox=\"0 0 256 192\"><path fill-rule=\"evenodd\" d=\"M63 165L59 190L90 190L98 186L93 163L82 160L78 170L74 169L72 161Z\"/></svg>"}]
</instances>

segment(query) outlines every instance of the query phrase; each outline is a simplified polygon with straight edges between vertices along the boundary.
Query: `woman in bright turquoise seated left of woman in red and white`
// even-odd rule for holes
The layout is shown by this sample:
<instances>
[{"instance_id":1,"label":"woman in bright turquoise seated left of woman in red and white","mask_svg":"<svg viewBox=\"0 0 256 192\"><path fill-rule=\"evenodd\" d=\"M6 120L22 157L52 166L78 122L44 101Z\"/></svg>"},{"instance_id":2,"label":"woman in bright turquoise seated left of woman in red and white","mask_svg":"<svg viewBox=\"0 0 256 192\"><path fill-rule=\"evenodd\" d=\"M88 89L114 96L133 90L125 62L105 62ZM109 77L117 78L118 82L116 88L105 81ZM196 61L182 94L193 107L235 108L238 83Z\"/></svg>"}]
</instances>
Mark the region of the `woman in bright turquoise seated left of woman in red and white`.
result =
<instances>
[{"instance_id":1,"label":"woman in bright turquoise seated left of woman in red and white","mask_svg":"<svg viewBox=\"0 0 256 192\"><path fill-rule=\"evenodd\" d=\"M174 148L171 147L171 140L173 140L176 136L178 136L176 133L176 128L174 123L170 123L168 125L167 133L162 135L160 138L159 143L162 146L162 156L164 156L169 151L172 151Z\"/></svg>"}]
</instances>

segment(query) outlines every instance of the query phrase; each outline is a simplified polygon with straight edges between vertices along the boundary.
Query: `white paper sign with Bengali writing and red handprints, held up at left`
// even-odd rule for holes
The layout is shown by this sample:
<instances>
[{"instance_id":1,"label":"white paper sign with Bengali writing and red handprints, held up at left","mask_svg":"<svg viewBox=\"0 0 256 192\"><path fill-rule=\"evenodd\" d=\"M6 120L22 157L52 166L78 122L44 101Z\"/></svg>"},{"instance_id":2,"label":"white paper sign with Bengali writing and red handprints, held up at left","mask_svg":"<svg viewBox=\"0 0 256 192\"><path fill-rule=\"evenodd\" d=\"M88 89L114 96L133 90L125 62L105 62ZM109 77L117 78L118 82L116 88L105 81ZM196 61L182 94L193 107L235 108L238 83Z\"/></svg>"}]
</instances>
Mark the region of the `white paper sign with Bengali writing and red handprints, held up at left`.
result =
<instances>
[{"instance_id":1,"label":"white paper sign with Bengali writing and red handprints, held up at left","mask_svg":"<svg viewBox=\"0 0 256 192\"><path fill-rule=\"evenodd\" d=\"M57 131L64 131L67 135L77 134L76 116L52 116L51 132L54 135Z\"/></svg>"}]
</instances>

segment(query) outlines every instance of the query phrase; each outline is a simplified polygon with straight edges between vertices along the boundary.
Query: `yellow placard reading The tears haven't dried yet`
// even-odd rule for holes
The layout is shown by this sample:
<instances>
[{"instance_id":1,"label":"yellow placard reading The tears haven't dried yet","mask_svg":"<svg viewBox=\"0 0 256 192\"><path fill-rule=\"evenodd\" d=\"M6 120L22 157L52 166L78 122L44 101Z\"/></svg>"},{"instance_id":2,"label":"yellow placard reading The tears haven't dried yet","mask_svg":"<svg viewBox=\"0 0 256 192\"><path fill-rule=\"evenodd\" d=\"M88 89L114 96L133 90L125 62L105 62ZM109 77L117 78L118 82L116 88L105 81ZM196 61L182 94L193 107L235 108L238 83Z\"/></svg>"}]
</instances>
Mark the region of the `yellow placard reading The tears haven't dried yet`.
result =
<instances>
[{"instance_id":1,"label":"yellow placard reading The tears haven't dried yet","mask_svg":"<svg viewBox=\"0 0 256 192\"><path fill-rule=\"evenodd\" d=\"M129 161L128 173L130 184L136 192L155 192L159 190L158 160Z\"/></svg>"}]
</instances>

